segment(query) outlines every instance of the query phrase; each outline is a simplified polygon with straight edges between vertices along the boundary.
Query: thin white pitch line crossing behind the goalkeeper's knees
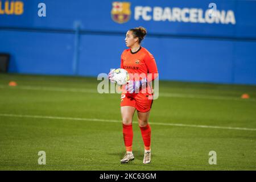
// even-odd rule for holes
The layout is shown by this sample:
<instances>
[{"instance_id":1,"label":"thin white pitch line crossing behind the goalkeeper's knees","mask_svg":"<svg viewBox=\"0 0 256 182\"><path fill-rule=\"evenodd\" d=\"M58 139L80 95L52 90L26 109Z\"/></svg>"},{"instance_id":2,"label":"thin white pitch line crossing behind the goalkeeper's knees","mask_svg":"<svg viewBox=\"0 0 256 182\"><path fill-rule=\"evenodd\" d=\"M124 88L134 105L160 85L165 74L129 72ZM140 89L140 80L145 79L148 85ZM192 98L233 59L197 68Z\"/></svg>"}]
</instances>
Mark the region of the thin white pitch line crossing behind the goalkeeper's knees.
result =
<instances>
[{"instance_id":1,"label":"thin white pitch line crossing behind the goalkeeper's knees","mask_svg":"<svg viewBox=\"0 0 256 182\"><path fill-rule=\"evenodd\" d=\"M20 115L20 114L0 114L2 117L20 117L20 118L40 118L40 119L62 119L62 120L73 120L73 121L100 121L100 122L114 122L121 123L121 120L114 119L97 119L97 118L72 118L72 117L54 117L54 116L43 116L43 115ZM134 122L137 123L137 122ZM150 125L162 125L162 126L182 126L182 127L200 127L210 129L228 129L228 130L247 130L256 131L256 129L249 129L245 127L225 127L225 126L206 126L206 125L187 125L179 123L158 123L151 122Z\"/></svg>"}]
</instances>

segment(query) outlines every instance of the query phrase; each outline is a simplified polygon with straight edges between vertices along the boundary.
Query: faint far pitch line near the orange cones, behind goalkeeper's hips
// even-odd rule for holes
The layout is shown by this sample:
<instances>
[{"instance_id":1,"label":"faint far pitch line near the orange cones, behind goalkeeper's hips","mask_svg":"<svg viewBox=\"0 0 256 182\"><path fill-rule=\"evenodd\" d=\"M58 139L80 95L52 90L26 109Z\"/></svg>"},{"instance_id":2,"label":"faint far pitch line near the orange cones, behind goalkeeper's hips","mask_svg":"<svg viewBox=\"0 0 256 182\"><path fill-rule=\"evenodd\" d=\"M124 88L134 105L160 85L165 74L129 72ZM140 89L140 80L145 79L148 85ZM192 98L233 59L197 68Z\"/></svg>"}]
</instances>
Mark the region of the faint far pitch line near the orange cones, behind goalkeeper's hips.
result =
<instances>
[{"instance_id":1,"label":"faint far pitch line near the orange cones, behind goalkeeper's hips","mask_svg":"<svg viewBox=\"0 0 256 182\"><path fill-rule=\"evenodd\" d=\"M79 89L79 88L57 88L57 87L46 87L46 86L15 86L10 87L6 85L0 85L2 89L21 89L21 90L39 90L39 91L54 91L54 92L76 92L76 93L96 93L96 89ZM174 97L174 98L198 98L208 100L229 100L229 101L256 101L254 98L241 99L238 97L224 97L224 96L204 96L196 94L180 94L180 93L161 93L159 97Z\"/></svg>"}]
</instances>

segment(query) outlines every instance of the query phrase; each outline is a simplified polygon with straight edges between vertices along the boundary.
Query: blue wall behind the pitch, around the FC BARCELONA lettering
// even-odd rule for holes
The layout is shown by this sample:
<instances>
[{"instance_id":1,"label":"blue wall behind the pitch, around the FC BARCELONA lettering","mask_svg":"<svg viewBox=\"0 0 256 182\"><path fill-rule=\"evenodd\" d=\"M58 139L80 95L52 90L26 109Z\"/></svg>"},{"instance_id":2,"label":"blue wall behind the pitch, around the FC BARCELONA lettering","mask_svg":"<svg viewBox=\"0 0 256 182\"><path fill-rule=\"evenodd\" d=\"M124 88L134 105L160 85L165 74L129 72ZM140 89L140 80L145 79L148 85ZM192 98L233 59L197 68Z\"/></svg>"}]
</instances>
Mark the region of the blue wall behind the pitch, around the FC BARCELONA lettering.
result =
<instances>
[{"instance_id":1,"label":"blue wall behind the pitch, around the FC BARCELONA lettering","mask_svg":"<svg viewBox=\"0 0 256 182\"><path fill-rule=\"evenodd\" d=\"M5 1L0 2L4 10ZM111 18L113 1L21 2L22 15L0 13L0 52L11 54L9 72L108 73L119 67L126 31L144 26L148 35L142 46L155 56L160 79L256 85L255 1L216 1L217 10L234 12L235 24L155 21L142 16L136 20L134 15L136 6L205 12L210 1L129 1L130 20L121 24ZM39 2L46 3L46 17L38 16Z\"/></svg>"}]
</instances>

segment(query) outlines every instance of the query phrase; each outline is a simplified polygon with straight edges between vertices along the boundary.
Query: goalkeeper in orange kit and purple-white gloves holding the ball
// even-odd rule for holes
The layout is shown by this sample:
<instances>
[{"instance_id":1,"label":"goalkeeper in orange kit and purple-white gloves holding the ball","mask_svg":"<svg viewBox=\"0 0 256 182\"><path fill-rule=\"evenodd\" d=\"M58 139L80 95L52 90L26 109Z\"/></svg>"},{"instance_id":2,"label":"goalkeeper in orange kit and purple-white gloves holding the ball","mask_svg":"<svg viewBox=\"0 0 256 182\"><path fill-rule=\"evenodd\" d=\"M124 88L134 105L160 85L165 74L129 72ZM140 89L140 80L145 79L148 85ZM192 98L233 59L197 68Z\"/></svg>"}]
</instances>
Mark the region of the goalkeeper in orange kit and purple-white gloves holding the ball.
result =
<instances>
[{"instance_id":1,"label":"goalkeeper in orange kit and purple-white gloves holding the ball","mask_svg":"<svg viewBox=\"0 0 256 182\"><path fill-rule=\"evenodd\" d=\"M146 36L143 27L132 28L126 33L125 43L129 47L121 55L120 68L129 73L129 83L122 86L121 115L123 123L123 139L126 154L121 163L127 163L134 159L133 155L133 115L137 110L138 123L144 142L143 163L151 162L151 127L148 123L150 109L153 102L151 81L158 77L154 56L141 47L141 42ZM110 71L109 79L112 80L114 70ZM113 81L113 80L112 80Z\"/></svg>"}]
</instances>

